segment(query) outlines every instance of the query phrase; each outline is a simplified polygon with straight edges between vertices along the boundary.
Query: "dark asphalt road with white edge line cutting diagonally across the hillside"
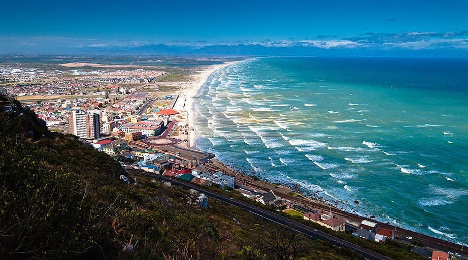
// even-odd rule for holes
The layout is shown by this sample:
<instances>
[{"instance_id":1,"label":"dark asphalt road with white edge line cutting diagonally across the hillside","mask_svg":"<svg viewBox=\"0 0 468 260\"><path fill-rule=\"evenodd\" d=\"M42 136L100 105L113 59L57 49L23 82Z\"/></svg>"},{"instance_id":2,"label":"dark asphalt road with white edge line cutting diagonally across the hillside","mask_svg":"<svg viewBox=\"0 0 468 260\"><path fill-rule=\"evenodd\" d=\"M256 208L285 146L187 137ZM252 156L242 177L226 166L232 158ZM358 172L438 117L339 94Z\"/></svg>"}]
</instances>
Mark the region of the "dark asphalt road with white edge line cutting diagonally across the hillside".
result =
<instances>
[{"instance_id":1,"label":"dark asphalt road with white edge line cutting diagonally across the hillside","mask_svg":"<svg viewBox=\"0 0 468 260\"><path fill-rule=\"evenodd\" d=\"M320 239L320 240L329 241L329 242L333 243L336 246L349 248L351 250L354 250L357 253L363 255L366 259L370 259L370 260L380 260L380 259L384 259L384 260L388 259L389 260L389 259L391 259L389 257L386 257L386 256L383 256L383 255L378 254L376 252L373 252L373 251L371 251L369 249L366 249L366 248L360 247L358 245L352 244L352 243L350 243L350 242L348 242L346 240L342 240L342 239L333 237L331 235L328 235L326 233L323 233L321 231L318 231L318 230L316 230L314 228L311 228L310 226L301 224L301 223L296 222L294 220L291 220L291 219L288 219L288 218L283 217L281 215L275 214L275 213L273 213L271 211L262 209L260 207L254 206L254 205L251 205L251 204L249 204L247 202L243 202L243 201L240 201L240 200L230 198L230 197L225 196L225 195L223 195L221 193L214 192L214 191L205 189L203 187L199 187L199 186L193 185L191 183L178 180L176 178L168 178L168 177L165 177L165 176L162 176L162 175L145 173L145 172L140 172L140 171L135 171L135 170L129 170L129 172L133 173L133 174L140 174L140 175L154 177L154 178L157 178L157 179L161 179L161 180L164 180L164 181L171 182L174 185L182 186L182 187L185 187L185 188L195 189L198 192L205 193L205 195L208 196L208 197L217 199L219 201L225 202L225 203L233 205L233 206L243 208L243 209L249 211L252 214L255 214L255 215L260 216L260 217L262 217L262 218L264 218L266 220L269 220L269 221L281 224L283 226L286 226L287 228L289 228L291 230L294 230L296 232L302 233L302 234L304 234L304 235L306 235L306 236L308 236L308 237L310 237L312 239Z\"/></svg>"}]
</instances>

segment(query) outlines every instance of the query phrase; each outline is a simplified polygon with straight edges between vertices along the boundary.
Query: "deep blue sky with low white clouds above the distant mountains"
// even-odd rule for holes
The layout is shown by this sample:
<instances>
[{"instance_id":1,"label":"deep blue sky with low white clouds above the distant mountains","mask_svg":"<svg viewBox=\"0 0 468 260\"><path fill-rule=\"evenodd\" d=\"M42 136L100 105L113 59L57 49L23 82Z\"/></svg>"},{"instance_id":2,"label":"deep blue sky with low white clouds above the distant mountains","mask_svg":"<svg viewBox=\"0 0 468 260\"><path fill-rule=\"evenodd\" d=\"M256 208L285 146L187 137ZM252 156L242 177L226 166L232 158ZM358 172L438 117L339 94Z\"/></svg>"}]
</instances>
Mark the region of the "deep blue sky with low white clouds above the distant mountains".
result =
<instances>
[{"instance_id":1,"label":"deep blue sky with low white clouds above the distant mountains","mask_svg":"<svg viewBox=\"0 0 468 260\"><path fill-rule=\"evenodd\" d=\"M6 1L0 53L260 44L468 50L468 1Z\"/></svg>"}]
</instances>

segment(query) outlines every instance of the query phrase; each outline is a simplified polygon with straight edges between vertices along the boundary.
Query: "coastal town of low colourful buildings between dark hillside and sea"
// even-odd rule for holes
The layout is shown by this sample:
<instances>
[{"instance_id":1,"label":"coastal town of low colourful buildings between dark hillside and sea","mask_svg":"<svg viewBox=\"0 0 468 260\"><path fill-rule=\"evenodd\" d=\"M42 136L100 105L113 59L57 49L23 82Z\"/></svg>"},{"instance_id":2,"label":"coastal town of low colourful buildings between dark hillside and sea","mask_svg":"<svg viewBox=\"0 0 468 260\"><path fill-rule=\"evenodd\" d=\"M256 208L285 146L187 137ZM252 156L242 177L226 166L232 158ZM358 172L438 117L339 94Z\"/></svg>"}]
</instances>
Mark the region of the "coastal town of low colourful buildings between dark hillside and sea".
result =
<instances>
[{"instance_id":1,"label":"coastal town of low colourful buildings between dark hillside and sea","mask_svg":"<svg viewBox=\"0 0 468 260\"><path fill-rule=\"evenodd\" d=\"M362 239L384 243L396 238L409 244L420 243L419 238L415 241L412 236L398 238L402 235L395 234L396 228L372 219L356 221L338 214L336 209L332 212L331 207L327 211L327 206L311 205L310 199L300 194L291 196L295 192L289 188L259 184L252 176L221 169L214 163L213 154L191 149L189 136L193 126L186 118L186 98L175 93L140 91L145 84L164 76L163 71L1 68L0 74L10 94L32 96L23 104L35 111L49 129L75 135L83 144L113 156L127 173L144 171L236 190L252 201ZM138 186L137 178L130 174L121 175L120 179ZM191 192L197 200L187 203L208 207L203 193ZM461 256L450 251L430 253L419 247L414 247L414 251L426 257L432 255L431 259Z\"/></svg>"}]
</instances>

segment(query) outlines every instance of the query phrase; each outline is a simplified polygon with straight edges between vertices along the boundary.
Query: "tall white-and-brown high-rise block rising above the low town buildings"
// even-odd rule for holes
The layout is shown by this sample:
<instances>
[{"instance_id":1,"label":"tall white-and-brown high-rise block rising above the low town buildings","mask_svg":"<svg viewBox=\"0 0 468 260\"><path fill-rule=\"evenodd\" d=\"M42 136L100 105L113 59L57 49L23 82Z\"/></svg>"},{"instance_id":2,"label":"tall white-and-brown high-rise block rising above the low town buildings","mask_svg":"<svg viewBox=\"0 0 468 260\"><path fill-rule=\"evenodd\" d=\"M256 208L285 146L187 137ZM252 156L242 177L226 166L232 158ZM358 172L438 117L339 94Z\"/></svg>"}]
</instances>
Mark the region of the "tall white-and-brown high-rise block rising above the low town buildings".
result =
<instances>
[{"instance_id":1,"label":"tall white-and-brown high-rise block rising above the low town buildings","mask_svg":"<svg viewBox=\"0 0 468 260\"><path fill-rule=\"evenodd\" d=\"M101 137L99 130L99 114L73 111L69 115L68 124L70 133L84 139L97 139Z\"/></svg>"}]
</instances>

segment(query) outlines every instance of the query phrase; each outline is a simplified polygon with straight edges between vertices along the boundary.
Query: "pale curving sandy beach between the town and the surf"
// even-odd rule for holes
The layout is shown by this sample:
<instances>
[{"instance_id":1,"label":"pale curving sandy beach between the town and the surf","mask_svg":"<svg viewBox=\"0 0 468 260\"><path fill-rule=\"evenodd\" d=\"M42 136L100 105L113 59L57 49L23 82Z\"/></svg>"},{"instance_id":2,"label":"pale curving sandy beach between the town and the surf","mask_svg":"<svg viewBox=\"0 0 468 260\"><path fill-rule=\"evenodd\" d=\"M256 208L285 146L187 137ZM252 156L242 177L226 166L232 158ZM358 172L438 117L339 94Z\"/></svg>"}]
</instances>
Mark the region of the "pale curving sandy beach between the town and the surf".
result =
<instances>
[{"instance_id":1,"label":"pale curving sandy beach between the town and the surf","mask_svg":"<svg viewBox=\"0 0 468 260\"><path fill-rule=\"evenodd\" d=\"M193 80L190 84L183 87L181 93L179 93L179 99L176 102L174 109L177 111L185 111L185 124L188 126L188 142L186 143L187 148L196 149L195 147L195 130L194 130L194 110L193 110L193 98L198 93L198 90L205 84L208 77L223 67L229 66L232 63L238 61L225 62L222 64L215 64L213 66L205 67L202 70L197 71L193 75Z\"/></svg>"}]
</instances>

